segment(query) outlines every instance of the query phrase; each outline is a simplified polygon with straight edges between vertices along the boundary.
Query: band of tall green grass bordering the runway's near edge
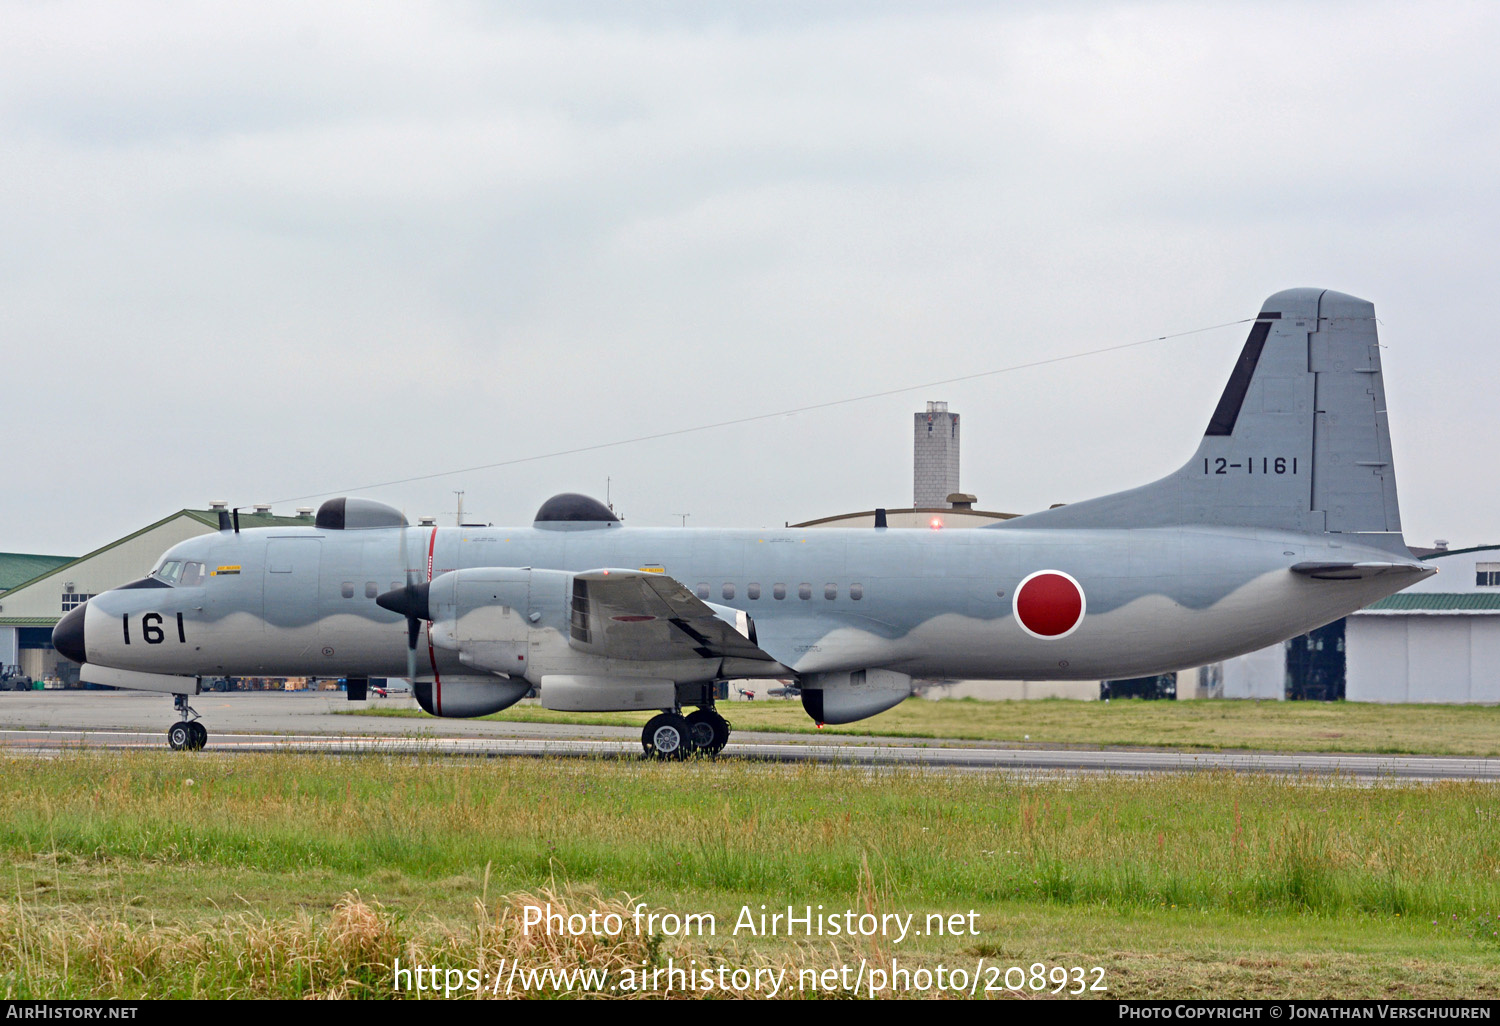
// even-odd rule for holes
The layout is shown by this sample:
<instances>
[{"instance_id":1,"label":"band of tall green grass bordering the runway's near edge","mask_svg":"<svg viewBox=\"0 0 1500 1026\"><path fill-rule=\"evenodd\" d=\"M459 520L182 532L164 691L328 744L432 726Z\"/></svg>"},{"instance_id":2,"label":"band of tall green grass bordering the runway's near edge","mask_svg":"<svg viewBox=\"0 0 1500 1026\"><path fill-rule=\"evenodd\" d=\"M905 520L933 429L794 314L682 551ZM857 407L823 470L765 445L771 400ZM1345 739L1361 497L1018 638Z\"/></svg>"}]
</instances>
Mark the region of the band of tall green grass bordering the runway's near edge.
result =
<instances>
[{"instance_id":1,"label":"band of tall green grass bordering the runway's near edge","mask_svg":"<svg viewBox=\"0 0 1500 1026\"><path fill-rule=\"evenodd\" d=\"M430 892L488 866L502 890L562 879L784 903L852 898L867 861L882 886L938 903L1437 915L1500 910L1497 796L1239 774L80 753L10 764L0 852L62 890L150 867L210 891L236 874L357 886L380 872Z\"/></svg>"}]
</instances>

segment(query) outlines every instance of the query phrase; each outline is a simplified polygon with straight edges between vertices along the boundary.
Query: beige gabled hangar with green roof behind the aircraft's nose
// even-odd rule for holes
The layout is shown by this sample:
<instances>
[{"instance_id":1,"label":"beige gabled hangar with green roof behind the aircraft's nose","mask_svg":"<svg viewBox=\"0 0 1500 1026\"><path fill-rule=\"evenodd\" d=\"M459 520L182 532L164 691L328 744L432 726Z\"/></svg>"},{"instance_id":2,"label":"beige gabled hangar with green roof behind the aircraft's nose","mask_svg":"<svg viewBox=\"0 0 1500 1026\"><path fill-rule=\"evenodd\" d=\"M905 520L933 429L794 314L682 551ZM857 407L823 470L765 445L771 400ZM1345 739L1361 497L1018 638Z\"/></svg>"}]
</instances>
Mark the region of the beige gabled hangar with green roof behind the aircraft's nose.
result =
<instances>
[{"instance_id":1,"label":"beige gabled hangar with green roof behind the aircraft's nose","mask_svg":"<svg viewBox=\"0 0 1500 1026\"><path fill-rule=\"evenodd\" d=\"M240 513L240 526L308 526L312 510L273 516L268 507ZM0 668L20 666L32 680L78 681L78 663L52 648L63 614L123 584L144 578L166 549L219 530L219 510L177 510L75 558L0 554ZM3 542L3 540L0 540Z\"/></svg>"}]
</instances>

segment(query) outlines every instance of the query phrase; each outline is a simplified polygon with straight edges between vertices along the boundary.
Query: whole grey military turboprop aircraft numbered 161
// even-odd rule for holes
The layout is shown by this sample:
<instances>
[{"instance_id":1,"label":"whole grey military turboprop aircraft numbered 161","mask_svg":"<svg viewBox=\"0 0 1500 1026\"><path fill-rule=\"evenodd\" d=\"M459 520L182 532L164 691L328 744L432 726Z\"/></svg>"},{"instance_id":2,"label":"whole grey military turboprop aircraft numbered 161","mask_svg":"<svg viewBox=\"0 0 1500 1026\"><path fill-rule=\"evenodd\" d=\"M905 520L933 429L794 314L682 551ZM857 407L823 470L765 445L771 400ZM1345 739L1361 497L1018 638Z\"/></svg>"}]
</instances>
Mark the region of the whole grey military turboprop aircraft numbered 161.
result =
<instances>
[{"instance_id":1,"label":"whole grey military turboprop aircraft numbered 161","mask_svg":"<svg viewBox=\"0 0 1500 1026\"><path fill-rule=\"evenodd\" d=\"M52 644L81 678L176 696L204 676L405 672L434 716L536 688L552 710L660 710L657 758L717 753L716 684L795 680L819 723L912 678L1098 680L1221 660L1432 573L1401 537L1374 306L1299 288L1262 308L1197 453L1167 477L992 528L626 528L558 495L520 528L411 526L360 498L314 526L172 546ZM682 716L684 706L696 706Z\"/></svg>"}]
</instances>

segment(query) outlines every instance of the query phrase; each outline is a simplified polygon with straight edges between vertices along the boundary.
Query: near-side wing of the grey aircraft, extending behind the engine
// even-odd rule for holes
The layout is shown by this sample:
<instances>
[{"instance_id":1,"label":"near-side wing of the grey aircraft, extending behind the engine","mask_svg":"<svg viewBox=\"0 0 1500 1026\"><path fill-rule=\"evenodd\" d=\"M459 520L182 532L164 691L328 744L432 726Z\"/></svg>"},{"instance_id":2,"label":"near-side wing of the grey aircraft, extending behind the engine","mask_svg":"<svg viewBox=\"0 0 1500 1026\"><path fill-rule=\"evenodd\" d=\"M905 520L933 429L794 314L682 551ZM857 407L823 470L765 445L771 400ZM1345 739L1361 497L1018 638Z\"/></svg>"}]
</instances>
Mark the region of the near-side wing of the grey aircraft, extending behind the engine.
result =
<instances>
[{"instance_id":1,"label":"near-side wing of the grey aircraft, extending behind the engine","mask_svg":"<svg viewBox=\"0 0 1500 1026\"><path fill-rule=\"evenodd\" d=\"M568 645L608 658L696 656L776 663L756 645L748 615L728 608L716 610L680 580L642 570L573 574Z\"/></svg>"}]
</instances>

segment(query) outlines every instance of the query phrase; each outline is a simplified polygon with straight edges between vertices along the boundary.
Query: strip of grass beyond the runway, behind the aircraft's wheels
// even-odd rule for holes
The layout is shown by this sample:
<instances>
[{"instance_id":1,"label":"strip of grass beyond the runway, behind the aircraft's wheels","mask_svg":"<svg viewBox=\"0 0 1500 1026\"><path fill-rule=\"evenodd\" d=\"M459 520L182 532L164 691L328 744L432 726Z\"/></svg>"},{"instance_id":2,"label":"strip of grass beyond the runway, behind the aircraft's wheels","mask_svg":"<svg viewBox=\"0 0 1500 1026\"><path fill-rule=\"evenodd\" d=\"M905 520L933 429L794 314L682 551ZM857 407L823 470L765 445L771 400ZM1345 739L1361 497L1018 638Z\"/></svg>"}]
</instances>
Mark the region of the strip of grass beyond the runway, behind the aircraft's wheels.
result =
<instances>
[{"instance_id":1,"label":"strip of grass beyond the runway, behind the aircraft's wheels","mask_svg":"<svg viewBox=\"0 0 1500 1026\"><path fill-rule=\"evenodd\" d=\"M819 734L800 702L726 702L736 732ZM426 718L374 706L352 716ZM486 720L645 726L651 712L552 712L525 702ZM1366 702L976 702L910 699L822 734L954 738L1017 744L1254 748L1500 756L1500 706Z\"/></svg>"}]
</instances>

